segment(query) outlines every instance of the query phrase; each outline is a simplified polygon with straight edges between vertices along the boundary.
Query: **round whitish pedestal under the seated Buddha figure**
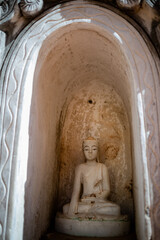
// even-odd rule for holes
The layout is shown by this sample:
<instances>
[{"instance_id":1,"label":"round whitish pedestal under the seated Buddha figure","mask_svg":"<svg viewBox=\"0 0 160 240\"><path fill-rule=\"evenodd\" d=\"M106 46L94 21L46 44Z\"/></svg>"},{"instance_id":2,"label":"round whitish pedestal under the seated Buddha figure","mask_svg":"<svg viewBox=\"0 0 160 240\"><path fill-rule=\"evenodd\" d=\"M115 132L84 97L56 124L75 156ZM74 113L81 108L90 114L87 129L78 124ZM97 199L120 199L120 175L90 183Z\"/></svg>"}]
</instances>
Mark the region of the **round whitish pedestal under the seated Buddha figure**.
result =
<instances>
[{"instance_id":1,"label":"round whitish pedestal under the seated Buddha figure","mask_svg":"<svg viewBox=\"0 0 160 240\"><path fill-rule=\"evenodd\" d=\"M58 214L55 230L82 237L118 237L129 233L130 222L127 216L108 217L108 219L67 218Z\"/></svg>"}]
</instances>

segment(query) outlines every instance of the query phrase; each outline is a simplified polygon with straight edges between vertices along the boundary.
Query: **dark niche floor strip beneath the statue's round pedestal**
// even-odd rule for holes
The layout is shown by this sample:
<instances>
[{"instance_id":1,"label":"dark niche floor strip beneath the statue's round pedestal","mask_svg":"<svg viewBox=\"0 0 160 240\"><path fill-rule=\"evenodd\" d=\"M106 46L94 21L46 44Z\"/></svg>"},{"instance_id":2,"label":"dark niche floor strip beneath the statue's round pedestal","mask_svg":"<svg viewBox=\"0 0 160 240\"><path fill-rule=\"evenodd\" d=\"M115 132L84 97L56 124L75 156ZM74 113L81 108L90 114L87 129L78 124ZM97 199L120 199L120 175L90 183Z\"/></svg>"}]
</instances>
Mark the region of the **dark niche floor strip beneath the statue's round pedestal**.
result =
<instances>
[{"instance_id":1,"label":"dark niche floor strip beneath the statue's round pedestal","mask_svg":"<svg viewBox=\"0 0 160 240\"><path fill-rule=\"evenodd\" d=\"M89 237L74 237L57 232L49 233L42 240L136 240L134 233L124 237L112 237L112 238L89 238Z\"/></svg>"}]
</instances>

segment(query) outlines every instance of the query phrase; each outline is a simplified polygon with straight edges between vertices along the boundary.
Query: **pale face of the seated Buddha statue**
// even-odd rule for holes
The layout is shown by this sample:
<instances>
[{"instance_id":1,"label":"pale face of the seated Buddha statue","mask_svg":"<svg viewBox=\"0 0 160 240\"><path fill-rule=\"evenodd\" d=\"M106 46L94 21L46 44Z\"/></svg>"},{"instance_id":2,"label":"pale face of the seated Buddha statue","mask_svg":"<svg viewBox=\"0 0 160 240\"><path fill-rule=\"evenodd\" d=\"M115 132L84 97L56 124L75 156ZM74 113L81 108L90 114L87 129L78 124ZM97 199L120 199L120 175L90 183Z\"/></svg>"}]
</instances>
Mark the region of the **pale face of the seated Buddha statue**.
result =
<instances>
[{"instance_id":1,"label":"pale face of the seated Buddha statue","mask_svg":"<svg viewBox=\"0 0 160 240\"><path fill-rule=\"evenodd\" d=\"M93 161L97 159L98 145L95 140L85 140L83 143L83 151L86 160Z\"/></svg>"}]
</instances>

